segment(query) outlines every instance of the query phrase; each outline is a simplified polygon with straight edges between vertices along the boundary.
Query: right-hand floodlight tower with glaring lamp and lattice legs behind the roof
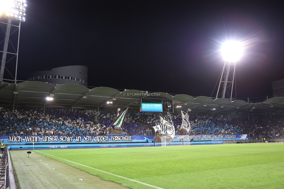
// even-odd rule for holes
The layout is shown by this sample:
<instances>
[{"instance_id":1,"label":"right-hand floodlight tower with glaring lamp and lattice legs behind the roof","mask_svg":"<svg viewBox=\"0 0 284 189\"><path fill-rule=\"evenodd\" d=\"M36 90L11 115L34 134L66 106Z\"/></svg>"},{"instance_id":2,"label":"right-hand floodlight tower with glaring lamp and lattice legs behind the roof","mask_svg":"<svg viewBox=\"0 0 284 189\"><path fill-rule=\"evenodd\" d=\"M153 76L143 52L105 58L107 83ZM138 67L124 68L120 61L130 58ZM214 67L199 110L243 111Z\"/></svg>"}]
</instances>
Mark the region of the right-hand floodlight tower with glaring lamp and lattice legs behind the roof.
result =
<instances>
[{"instance_id":1,"label":"right-hand floodlight tower with glaring lamp and lattice legs behind the roof","mask_svg":"<svg viewBox=\"0 0 284 189\"><path fill-rule=\"evenodd\" d=\"M222 93L220 94L221 98L227 97L227 99L230 99L230 101L232 101L236 62L242 56L242 45L241 43L236 41L227 41L223 44L221 52L225 62L222 69L219 88L215 99L218 98L219 90L222 88Z\"/></svg>"}]
</instances>

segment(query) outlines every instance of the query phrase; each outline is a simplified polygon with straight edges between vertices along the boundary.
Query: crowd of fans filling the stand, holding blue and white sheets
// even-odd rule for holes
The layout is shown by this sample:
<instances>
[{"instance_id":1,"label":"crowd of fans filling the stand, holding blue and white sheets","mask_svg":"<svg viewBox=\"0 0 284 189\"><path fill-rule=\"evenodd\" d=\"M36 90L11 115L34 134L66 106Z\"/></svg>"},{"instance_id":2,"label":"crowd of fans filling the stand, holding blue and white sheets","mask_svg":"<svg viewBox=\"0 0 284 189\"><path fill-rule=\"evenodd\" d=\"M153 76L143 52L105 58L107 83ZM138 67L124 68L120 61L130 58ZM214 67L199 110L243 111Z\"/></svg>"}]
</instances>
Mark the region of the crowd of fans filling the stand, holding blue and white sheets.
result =
<instances>
[{"instance_id":1,"label":"crowd of fans filling the stand, holding blue and white sheets","mask_svg":"<svg viewBox=\"0 0 284 189\"><path fill-rule=\"evenodd\" d=\"M63 109L18 109L11 111L0 107L0 135L107 135L110 124L116 118L115 111L63 110ZM165 114L145 115L128 112L122 131L125 135L144 135L153 130ZM171 120L178 133L182 118L171 114ZM189 116L191 123L188 134L259 134L267 137L284 135L284 116L227 118L225 116Z\"/></svg>"}]
</instances>

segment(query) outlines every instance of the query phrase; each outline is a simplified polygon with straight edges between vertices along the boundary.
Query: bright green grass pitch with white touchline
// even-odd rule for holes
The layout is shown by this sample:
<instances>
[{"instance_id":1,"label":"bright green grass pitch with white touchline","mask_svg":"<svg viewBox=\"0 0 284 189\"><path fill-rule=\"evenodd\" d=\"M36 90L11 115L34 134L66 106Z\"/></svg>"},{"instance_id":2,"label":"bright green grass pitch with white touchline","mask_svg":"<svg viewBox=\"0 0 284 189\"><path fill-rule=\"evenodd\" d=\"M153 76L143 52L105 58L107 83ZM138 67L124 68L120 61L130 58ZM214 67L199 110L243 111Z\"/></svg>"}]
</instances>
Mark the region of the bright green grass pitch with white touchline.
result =
<instances>
[{"instance_id":1,"label":"bright green grass pitch with white touchline","mask_svg":"<svg viewBox=\"0 0 284 189\"><path fill-rule=\"evenodd\" d=\"M284 188L284 143L39 151L165 189ZM129 188L152 188L42 155Z\"/></svg>"}]
</instances>

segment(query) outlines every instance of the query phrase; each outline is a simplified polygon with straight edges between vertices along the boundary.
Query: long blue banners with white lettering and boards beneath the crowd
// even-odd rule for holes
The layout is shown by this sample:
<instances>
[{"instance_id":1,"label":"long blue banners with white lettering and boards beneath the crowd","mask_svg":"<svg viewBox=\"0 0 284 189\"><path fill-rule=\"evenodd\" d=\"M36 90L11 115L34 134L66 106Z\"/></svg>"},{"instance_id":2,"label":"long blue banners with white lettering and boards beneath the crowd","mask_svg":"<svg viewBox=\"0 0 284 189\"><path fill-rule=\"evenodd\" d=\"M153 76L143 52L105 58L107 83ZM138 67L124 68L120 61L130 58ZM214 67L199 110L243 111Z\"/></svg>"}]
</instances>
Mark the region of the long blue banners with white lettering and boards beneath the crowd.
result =
<instances>
[{"instance_id":1,"label":"long blue banners with white lettering and boards beneath the crowd","mask_svg":"<svg viewBox=\"0 0 284 189\"><path fill-rule=\"evenodd\" d=\"M96 136L1 136L6 147L14 150L64 149L64 148L109 148L161 146L154 143L155 136L142 135L96 135ZM188 135L186 140L167 142L167 145L214 145L223 140L248 140L247 135ZM179 144L180 143L180 144Z\"/></svg>"}]
</instances>

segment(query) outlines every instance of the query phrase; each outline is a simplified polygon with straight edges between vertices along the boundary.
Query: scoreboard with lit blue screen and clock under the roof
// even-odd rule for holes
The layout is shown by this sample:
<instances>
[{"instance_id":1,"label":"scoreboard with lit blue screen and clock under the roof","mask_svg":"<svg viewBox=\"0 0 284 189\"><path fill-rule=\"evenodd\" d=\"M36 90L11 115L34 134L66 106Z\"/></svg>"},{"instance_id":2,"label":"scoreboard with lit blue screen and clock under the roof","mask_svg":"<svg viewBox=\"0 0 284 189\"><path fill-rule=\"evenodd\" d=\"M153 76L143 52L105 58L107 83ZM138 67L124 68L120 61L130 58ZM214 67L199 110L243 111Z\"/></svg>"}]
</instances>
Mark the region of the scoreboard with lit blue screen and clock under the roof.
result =
<instances>
[{"instance_id":1,"label":"scoreboard with lit blue screen and clock under the roof","mask_svg":"<svg viewBox=\"0 0 284 189\"><path fill-rule=\"evenodd\" d=\"M143 99L140 104L141 112L171 112L173 113L173 101L167 99Z\"/></svg>"}]
</instances>

